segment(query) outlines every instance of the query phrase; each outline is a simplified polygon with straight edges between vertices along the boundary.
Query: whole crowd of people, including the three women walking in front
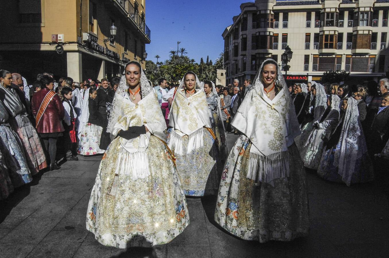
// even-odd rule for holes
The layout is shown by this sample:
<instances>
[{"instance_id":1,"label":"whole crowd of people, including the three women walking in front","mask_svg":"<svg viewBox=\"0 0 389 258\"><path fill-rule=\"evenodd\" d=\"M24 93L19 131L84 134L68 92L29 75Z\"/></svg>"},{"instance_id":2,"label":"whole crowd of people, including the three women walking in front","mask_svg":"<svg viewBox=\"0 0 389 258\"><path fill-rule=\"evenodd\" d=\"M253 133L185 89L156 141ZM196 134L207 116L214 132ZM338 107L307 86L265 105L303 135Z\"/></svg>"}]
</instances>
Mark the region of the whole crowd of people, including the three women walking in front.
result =
<instances>
[{"instance_id":1,"label":"whole crowd of people, including the three women walking in front","mask_svg":"<svg viewBox=\"0 0 389 258\"><path fill-rule=\"evenodd\" d=\"M388 79L379 92L288 87L266 59L253 83L239 83L187 71L179 85L153 87L135 61L111 82L43 73L29 86L1 70L0 199L60 160L103 154L86 215L103 245L170 242L189 225L186 196L205 195L216 196L215 221L231 234L291 241L309 229L305 167L347 185L385 168ZM230 153L226 133L239 135Z\"/></svg>"}]
</instances>

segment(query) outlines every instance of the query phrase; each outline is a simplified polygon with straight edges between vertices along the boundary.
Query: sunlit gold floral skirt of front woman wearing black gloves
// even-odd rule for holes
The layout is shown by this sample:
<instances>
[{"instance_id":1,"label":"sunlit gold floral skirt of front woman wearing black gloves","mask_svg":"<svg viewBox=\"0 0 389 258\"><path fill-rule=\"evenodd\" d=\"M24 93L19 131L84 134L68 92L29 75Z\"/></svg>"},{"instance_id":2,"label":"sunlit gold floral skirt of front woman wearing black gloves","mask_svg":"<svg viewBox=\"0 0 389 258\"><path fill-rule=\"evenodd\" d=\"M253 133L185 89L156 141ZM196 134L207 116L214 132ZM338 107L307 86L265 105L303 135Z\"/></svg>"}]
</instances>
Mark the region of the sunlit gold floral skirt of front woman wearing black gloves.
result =
<instances>
[{"instance_id":1,"label":"sunlit gold floral skirt of front woman wearing black gloves","mask_svg":"<svg viewBox=\"0 0 389 258\"><path fill-rule=\"evenodd\" d=\"M166 244L189 225L184 192L165 145L151 136L146 150L151 175L137 180L119 174L111 188L120 152L119 138L103 155L89 199L86 228L105 246L126 248ZM109 194L111 193L111 194Z\"/></svg>"}]
</instances>

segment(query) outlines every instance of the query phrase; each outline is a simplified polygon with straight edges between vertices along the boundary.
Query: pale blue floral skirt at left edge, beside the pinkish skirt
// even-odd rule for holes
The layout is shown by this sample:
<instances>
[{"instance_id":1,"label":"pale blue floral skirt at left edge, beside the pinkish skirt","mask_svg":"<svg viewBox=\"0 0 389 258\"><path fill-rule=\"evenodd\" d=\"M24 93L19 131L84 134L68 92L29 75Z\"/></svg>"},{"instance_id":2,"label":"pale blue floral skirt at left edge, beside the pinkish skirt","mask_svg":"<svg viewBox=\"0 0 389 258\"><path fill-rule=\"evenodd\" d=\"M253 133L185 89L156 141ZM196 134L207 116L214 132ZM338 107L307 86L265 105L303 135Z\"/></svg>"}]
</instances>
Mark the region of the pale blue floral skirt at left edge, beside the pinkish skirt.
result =
<instances>
[{"instance_id":1,"label":"pale blue floral skirt at left edge, beside the pinkish skirt","mask_svg":"<svg viewBox=\"0 0 389 258\"><path fill-rule=\"evenodd\" d=\"M32 176L19 136L10 127L0 126L0 141L4 146L2 150L4 165L8 169L13 187L30 183Z\"/></svg>"}]
</instances>

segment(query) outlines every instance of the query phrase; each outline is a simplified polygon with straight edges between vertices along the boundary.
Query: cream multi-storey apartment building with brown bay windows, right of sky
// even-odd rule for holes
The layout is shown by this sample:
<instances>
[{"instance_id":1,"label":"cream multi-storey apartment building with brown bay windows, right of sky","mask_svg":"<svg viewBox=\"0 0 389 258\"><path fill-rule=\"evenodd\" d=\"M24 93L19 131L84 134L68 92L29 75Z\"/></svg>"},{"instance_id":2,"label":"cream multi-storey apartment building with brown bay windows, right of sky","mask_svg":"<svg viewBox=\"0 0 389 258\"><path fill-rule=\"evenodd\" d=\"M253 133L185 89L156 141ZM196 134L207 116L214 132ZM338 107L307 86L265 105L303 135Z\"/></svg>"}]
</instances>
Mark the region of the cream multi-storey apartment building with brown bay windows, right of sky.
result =
<instances>
[{"instance_id":1,"label":"cream multi-storey apartment building with brown bay windows, right of sky","mask_svg":"<svg viewBox=\"0 0 389 258\"><path fill-rule=\"evenodd\" d=\"M284 68L287 45L289 83L331 70L350 71L357 83L388 70L389 0L256 0L240 10L222 34L227 83L253 79L266 58Z\"/></svg>"}]
</instances>

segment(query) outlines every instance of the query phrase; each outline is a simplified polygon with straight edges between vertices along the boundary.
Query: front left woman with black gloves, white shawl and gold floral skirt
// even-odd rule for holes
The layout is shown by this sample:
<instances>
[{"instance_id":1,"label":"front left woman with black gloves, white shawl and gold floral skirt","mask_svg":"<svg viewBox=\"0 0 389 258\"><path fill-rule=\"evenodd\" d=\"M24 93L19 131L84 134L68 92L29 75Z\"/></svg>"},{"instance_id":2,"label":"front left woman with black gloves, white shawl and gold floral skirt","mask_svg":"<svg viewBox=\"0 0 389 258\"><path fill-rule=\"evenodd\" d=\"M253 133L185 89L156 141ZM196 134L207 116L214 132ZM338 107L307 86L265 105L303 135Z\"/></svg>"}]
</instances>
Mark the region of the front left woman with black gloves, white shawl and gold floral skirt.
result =
<instances>
[{"instance_id":1,"label":"front left woman with black gloves, white shawl and gold floral skirt","mask_svg":"<svg viewBox=\"0 0 389 258\"><path fill-rule=\"evenodd\" d=\"M105 246L165 244L189 225L186 199L158 99L139 63L125 66L89 199L86 228Z\"/></svg>"}]
</instances>

